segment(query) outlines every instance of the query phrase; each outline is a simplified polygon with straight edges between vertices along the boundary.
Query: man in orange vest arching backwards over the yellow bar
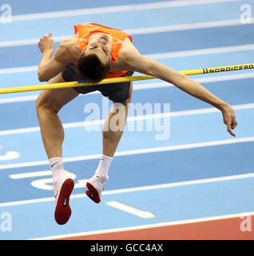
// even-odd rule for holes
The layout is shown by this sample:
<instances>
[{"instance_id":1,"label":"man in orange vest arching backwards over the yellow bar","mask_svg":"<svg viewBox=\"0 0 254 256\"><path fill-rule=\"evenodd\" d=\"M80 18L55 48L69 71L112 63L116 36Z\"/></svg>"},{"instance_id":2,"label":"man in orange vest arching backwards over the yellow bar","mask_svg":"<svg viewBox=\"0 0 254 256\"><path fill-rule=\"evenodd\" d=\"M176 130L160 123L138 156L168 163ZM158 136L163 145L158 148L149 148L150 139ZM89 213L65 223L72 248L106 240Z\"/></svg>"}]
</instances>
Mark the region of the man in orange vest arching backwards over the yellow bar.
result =
<instances>
[{"instance_id":1,"label":"man in orange vest arching backwards over the yellow bar","mask_svg":"<svg viewBox=\"0 0 254 256\"><path fill-rule=\"evenodd\" d=\"M185 74L180 74L168 66L141 55L133 46L132 37L129 34L97 23L83 23L74 28L73 38L63 40L54 57L52 57L54 40L51 38L51 34L46 34L40 40L38 46L42 51L42 61L38 66L38 78L41 82L86 80L96 84L104 78L131 76L135 71L149 74L172 83L187 94L216 107L223 115L228 133L235 136L232 130L237 126L236 117L228 103L217 98ZM58 111L73 98L76 98L78 94L87 94L94 90L101 91L102 95L113 102L113 110L105 119L102 129L103 152L101 159L95 174L89 178L86 184L87 196L98 203L101 201L101 191L109 178L109 166L124 130L124 127L118 130L112 129L109 123L116 114L121 114L122 118L126 119L133 82L42 90L36 102L42 140L53 175L56 198L54 214L58 224L65 224L69 220L71 214L69 196L74 186L73 180L65 177L64 173L62 162L64 129L58 117ZM124 111L121 113L117 112L117 103L124 106Z\"/></svg>"}]
</instances>

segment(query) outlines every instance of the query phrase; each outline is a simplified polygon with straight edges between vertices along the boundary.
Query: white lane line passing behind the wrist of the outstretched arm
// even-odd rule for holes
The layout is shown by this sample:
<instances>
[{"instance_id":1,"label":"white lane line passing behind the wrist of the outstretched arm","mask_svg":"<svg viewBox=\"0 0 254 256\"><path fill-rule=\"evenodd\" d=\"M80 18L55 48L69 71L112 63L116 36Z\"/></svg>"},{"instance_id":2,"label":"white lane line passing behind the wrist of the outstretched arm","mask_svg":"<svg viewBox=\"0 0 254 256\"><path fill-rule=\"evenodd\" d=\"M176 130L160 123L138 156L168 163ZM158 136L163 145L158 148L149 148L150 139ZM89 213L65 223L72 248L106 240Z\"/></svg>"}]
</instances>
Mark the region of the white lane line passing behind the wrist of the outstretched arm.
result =
<instances>
[{"instance_id":1,"label":"white lane line passing behind the wrist of the outstretched arm","mask_svg":"<svg viewBox=\"0 0 254 256\"><path fill-rule=\"evenodd\" d=\"M134 103L133 103L133 106L135 107ZM248 110L248 109L254 108L254 103L233 105L232 108L234 110ZM181 110L181 111L165 112L165 113L159 113L159 114L141 114L137 116L129 116L127 118L127 122L150 120L155 118L179 117L179 116L192 115L192 114L208 114L208 113L216 113L216 112L219 112L219 110L217 110L215 107L210 107L210 108L197 109L197 110ZM69 122L69 123L64 123L63 127L65 129L69 129L69 128L82 127L82 126L83 127L97 126L97 125L102 125L104 122L105 122L105 119L98 119L94 121L84 121L84 122ZM126 126L128 127L128 123ZM0 136L11 135L11 134L26 134L26 133L38 132L38 131L40 131L39 126L10 129L10 130L0 130Z\"/></svg>"}]
</instances>

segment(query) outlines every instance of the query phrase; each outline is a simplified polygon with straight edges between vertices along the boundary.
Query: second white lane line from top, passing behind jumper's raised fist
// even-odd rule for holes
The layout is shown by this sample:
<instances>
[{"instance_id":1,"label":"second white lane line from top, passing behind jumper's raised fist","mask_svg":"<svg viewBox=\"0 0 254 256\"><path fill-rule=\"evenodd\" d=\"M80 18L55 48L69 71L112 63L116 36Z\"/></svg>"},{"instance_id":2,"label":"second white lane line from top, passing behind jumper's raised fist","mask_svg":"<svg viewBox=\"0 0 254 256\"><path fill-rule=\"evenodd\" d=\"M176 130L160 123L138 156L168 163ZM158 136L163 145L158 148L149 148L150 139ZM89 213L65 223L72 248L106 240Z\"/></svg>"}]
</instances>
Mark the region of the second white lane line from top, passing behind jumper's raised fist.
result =
<instances>
[{"instance_id":1,"label":"second white lane line from top, passing behind jumper's raised fist","mask_svg":"<svg viewBox=\"0 0 254 256\"><path fill-rule=\"evenodd\" d=\"M196 22L196 23L185 23L180 25L169 25L169 26L154 26L147 28L139 28L139 29L128 29L125 30L126 33L135 35L135 34L153 34L153 33L161 33L161 32L172 32L172 31L182 31L182 30L198 30L198 29L208 29L213 27L221 27L221 26L240 26L240 25L248 25L253 24L254 18L250 19L248 23L243 23L240 19L234 20L226 20L226 21L216 21L216 22ZM72 37L73 35L59 36L54 37L54 42L62 42L65 38ZM30 38L24 40L14 40L14 41L6 41L0 42L1 47L13 47L13 46L29 46L38 44L40 38Z\"/></svg>"}]
</instances>

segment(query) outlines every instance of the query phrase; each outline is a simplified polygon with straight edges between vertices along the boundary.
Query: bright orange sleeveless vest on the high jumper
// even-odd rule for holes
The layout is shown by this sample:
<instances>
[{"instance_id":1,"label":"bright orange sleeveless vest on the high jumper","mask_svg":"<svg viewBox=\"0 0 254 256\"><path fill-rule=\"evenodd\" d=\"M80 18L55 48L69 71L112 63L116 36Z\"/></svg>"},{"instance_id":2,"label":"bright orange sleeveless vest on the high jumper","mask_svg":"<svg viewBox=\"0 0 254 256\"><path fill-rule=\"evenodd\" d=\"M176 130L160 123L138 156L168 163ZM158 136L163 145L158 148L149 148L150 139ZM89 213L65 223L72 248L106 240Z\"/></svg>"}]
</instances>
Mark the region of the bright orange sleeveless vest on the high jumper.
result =
<instances>
[{"instance_id":1,"label":"bright orange sleeveless vest on the high jumper","mask_svg":"<svg viewBox=\"0 0 254 256\"><path fill-rule=\"evenodd\" d=\"M110 28L108 26L102 26L97 23L82 23L79 25L74 26L75 34L78 34L79 38L79 47L80 50L84 50L85 46L87 45L89 35L93 32L103 32L105 34L110 34L113 37L113 46L112 46L112 64L116 61L118 57L118 52L121 49L121 45L124 42L125 38L129 38L131 42L133 42L133 38L126 34L122 30L117 30ZM121 77L122 75L126 74L128 71L122 71L122 72L109 72L107 78L117 78Z\"/></svg>"}]
</instances>

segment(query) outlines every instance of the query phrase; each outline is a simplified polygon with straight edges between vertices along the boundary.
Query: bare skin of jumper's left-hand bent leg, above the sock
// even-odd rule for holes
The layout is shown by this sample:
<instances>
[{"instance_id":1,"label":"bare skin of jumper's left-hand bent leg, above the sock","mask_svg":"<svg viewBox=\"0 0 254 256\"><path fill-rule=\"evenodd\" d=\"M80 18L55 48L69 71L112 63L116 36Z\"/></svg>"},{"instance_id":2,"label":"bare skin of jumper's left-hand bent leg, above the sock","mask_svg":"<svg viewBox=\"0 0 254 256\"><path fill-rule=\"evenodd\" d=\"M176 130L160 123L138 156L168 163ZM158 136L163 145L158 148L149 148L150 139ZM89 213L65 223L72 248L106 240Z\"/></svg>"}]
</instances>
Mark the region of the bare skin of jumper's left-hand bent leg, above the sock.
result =
<instances>
[{"instance_id":1,"label":"bare skin of jumper's left-hand bent leg, above the sock","mask_svg":"<svg viewBox=\"0 0 254 256\"><path fill-rule=\"evenodd\" d=\"M65 82L62 74L52 78L49 83L55 82ZM36 101L42 141L49 159L62 158L64 129L58 111L77 95L73 88L43 90Z\"/></svg>"}]
</instances>

